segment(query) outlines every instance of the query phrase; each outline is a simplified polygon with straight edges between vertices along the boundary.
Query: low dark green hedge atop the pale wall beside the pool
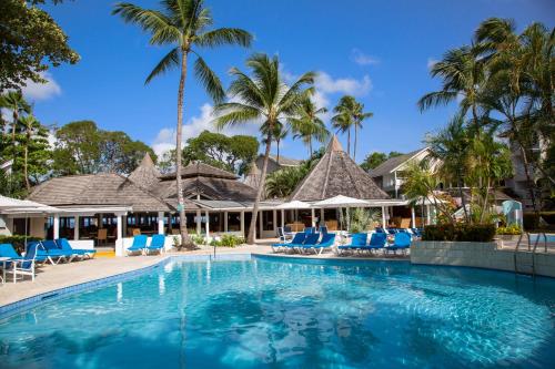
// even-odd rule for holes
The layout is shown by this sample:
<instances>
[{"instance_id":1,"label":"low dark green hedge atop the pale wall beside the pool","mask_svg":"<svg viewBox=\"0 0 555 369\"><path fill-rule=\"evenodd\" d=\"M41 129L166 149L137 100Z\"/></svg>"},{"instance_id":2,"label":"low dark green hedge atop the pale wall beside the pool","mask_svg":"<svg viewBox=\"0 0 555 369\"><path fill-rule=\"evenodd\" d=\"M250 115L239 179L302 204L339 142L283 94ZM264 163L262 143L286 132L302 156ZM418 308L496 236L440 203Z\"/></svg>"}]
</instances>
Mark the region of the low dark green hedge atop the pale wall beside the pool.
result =
<instances>
[{"instance_id":1,"label":"low dark green hedge atop the pale wall beside the pool","mask_svg":"<svg viewBox=\"0 0 555 369\"><path fill-rule=\"evenodd\" d=\"M493 224L451 224L427 225L424 227L422 240L461 240L491 242L495 236Z\"/></svg>"}]
</instances>

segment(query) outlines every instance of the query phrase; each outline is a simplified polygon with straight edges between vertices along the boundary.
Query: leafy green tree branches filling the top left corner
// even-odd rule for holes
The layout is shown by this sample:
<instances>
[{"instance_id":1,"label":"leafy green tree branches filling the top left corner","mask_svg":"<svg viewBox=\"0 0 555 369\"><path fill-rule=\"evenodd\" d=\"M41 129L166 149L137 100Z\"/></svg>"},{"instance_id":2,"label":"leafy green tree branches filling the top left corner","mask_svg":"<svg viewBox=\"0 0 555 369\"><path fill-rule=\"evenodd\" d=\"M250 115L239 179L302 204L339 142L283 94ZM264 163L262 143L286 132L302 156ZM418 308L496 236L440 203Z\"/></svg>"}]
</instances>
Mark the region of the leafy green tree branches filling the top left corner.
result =
<instances>
[{"instance_id":1,"label":"leafy green tree branches filling the top left corner","mask_svg":"<svg viewBox=\"0 0 555 369\"><path fill-rule=\"evenodd\" d=\"M36 7L42 2L0 1L0 92L20 90L28 81L44 83L49 64L79 61L58 23Z\"/></svg>"}]
</instances>

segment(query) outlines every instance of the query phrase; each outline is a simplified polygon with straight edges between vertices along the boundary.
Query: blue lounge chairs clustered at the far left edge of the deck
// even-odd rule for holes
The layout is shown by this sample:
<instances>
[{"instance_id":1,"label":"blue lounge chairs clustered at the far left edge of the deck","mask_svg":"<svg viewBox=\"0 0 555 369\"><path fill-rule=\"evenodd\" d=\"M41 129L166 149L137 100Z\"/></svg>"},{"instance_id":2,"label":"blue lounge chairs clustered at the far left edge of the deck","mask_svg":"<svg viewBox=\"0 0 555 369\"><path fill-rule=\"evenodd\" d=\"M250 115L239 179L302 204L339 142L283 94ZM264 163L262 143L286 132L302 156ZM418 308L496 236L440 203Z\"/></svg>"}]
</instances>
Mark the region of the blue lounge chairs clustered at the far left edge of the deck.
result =
<instances>
[{"instance_id":1,"label":"blue lounge chairs clustered at the far left edge of the deck","mask_svg":"<svg viewBox=\"0 0 555 369\"><path fill-rule=\"evenodd\" d=\"M97 250L72 248L68 239L60 238L56 240L32 240L27 243L26 253L19 255L11 244L0 245L0 257L8 258L1 264L3 268L3 278L6 274L12 274L13 283L19 277L30 276L34 281L36 267L38 264L51 263L56 265L61 262L70 263L74 259L93 258Z\"/></svg>"}]
</instances>

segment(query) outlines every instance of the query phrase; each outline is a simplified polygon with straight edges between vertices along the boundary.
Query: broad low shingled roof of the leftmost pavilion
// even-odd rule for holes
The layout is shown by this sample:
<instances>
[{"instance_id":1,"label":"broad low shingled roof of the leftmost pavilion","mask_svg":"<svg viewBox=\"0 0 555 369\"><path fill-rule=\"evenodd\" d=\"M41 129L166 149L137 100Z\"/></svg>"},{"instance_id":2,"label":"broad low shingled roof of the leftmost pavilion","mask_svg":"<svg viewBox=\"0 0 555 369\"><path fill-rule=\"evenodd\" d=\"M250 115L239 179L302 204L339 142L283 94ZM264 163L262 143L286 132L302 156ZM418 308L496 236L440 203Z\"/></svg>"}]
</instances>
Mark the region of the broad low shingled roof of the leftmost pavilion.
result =
<instances>
[{"instance_id":1,"label":"broad low shingled roof of the leftmost pavilion","mask_svg":"<svg viewBox=\"0 0 555 369\"><path fill-rule=\"evenodd\" d=\"M29 199L47 205L129 205L133 212L169 212L172 207L115 173L71 175L37 186Z\"/></svg>"}]
</instances>

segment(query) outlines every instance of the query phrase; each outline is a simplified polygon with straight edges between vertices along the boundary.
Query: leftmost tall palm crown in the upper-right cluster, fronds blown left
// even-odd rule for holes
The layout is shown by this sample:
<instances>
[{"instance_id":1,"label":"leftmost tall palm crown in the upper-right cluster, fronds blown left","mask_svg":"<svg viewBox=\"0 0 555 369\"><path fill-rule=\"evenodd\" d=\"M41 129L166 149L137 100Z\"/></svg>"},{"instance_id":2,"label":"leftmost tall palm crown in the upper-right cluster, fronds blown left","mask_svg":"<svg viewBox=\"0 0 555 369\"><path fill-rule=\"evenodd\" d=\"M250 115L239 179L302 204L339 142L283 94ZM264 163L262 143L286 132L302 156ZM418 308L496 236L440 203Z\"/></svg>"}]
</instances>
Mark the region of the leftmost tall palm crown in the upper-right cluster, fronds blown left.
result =
<instances>
[{"instance_id":1,"label":"leftmost tall palm crown in the upper-right cluster, fronds blown left","mask_svg":"<svg viewBox=\"0 0 555 369\"><path fill-rule=\"evenodd\" d=\"M442 89L425 94L418 100L421 111L431 106L446 105L461 99L462 112L472 111L475 132L478 131L478 100L486 81L484 60L478 58L478 47L462 47L450 50L443 59L432 66L433 78L442 79Z\"/></svg>"}]
</instances>

